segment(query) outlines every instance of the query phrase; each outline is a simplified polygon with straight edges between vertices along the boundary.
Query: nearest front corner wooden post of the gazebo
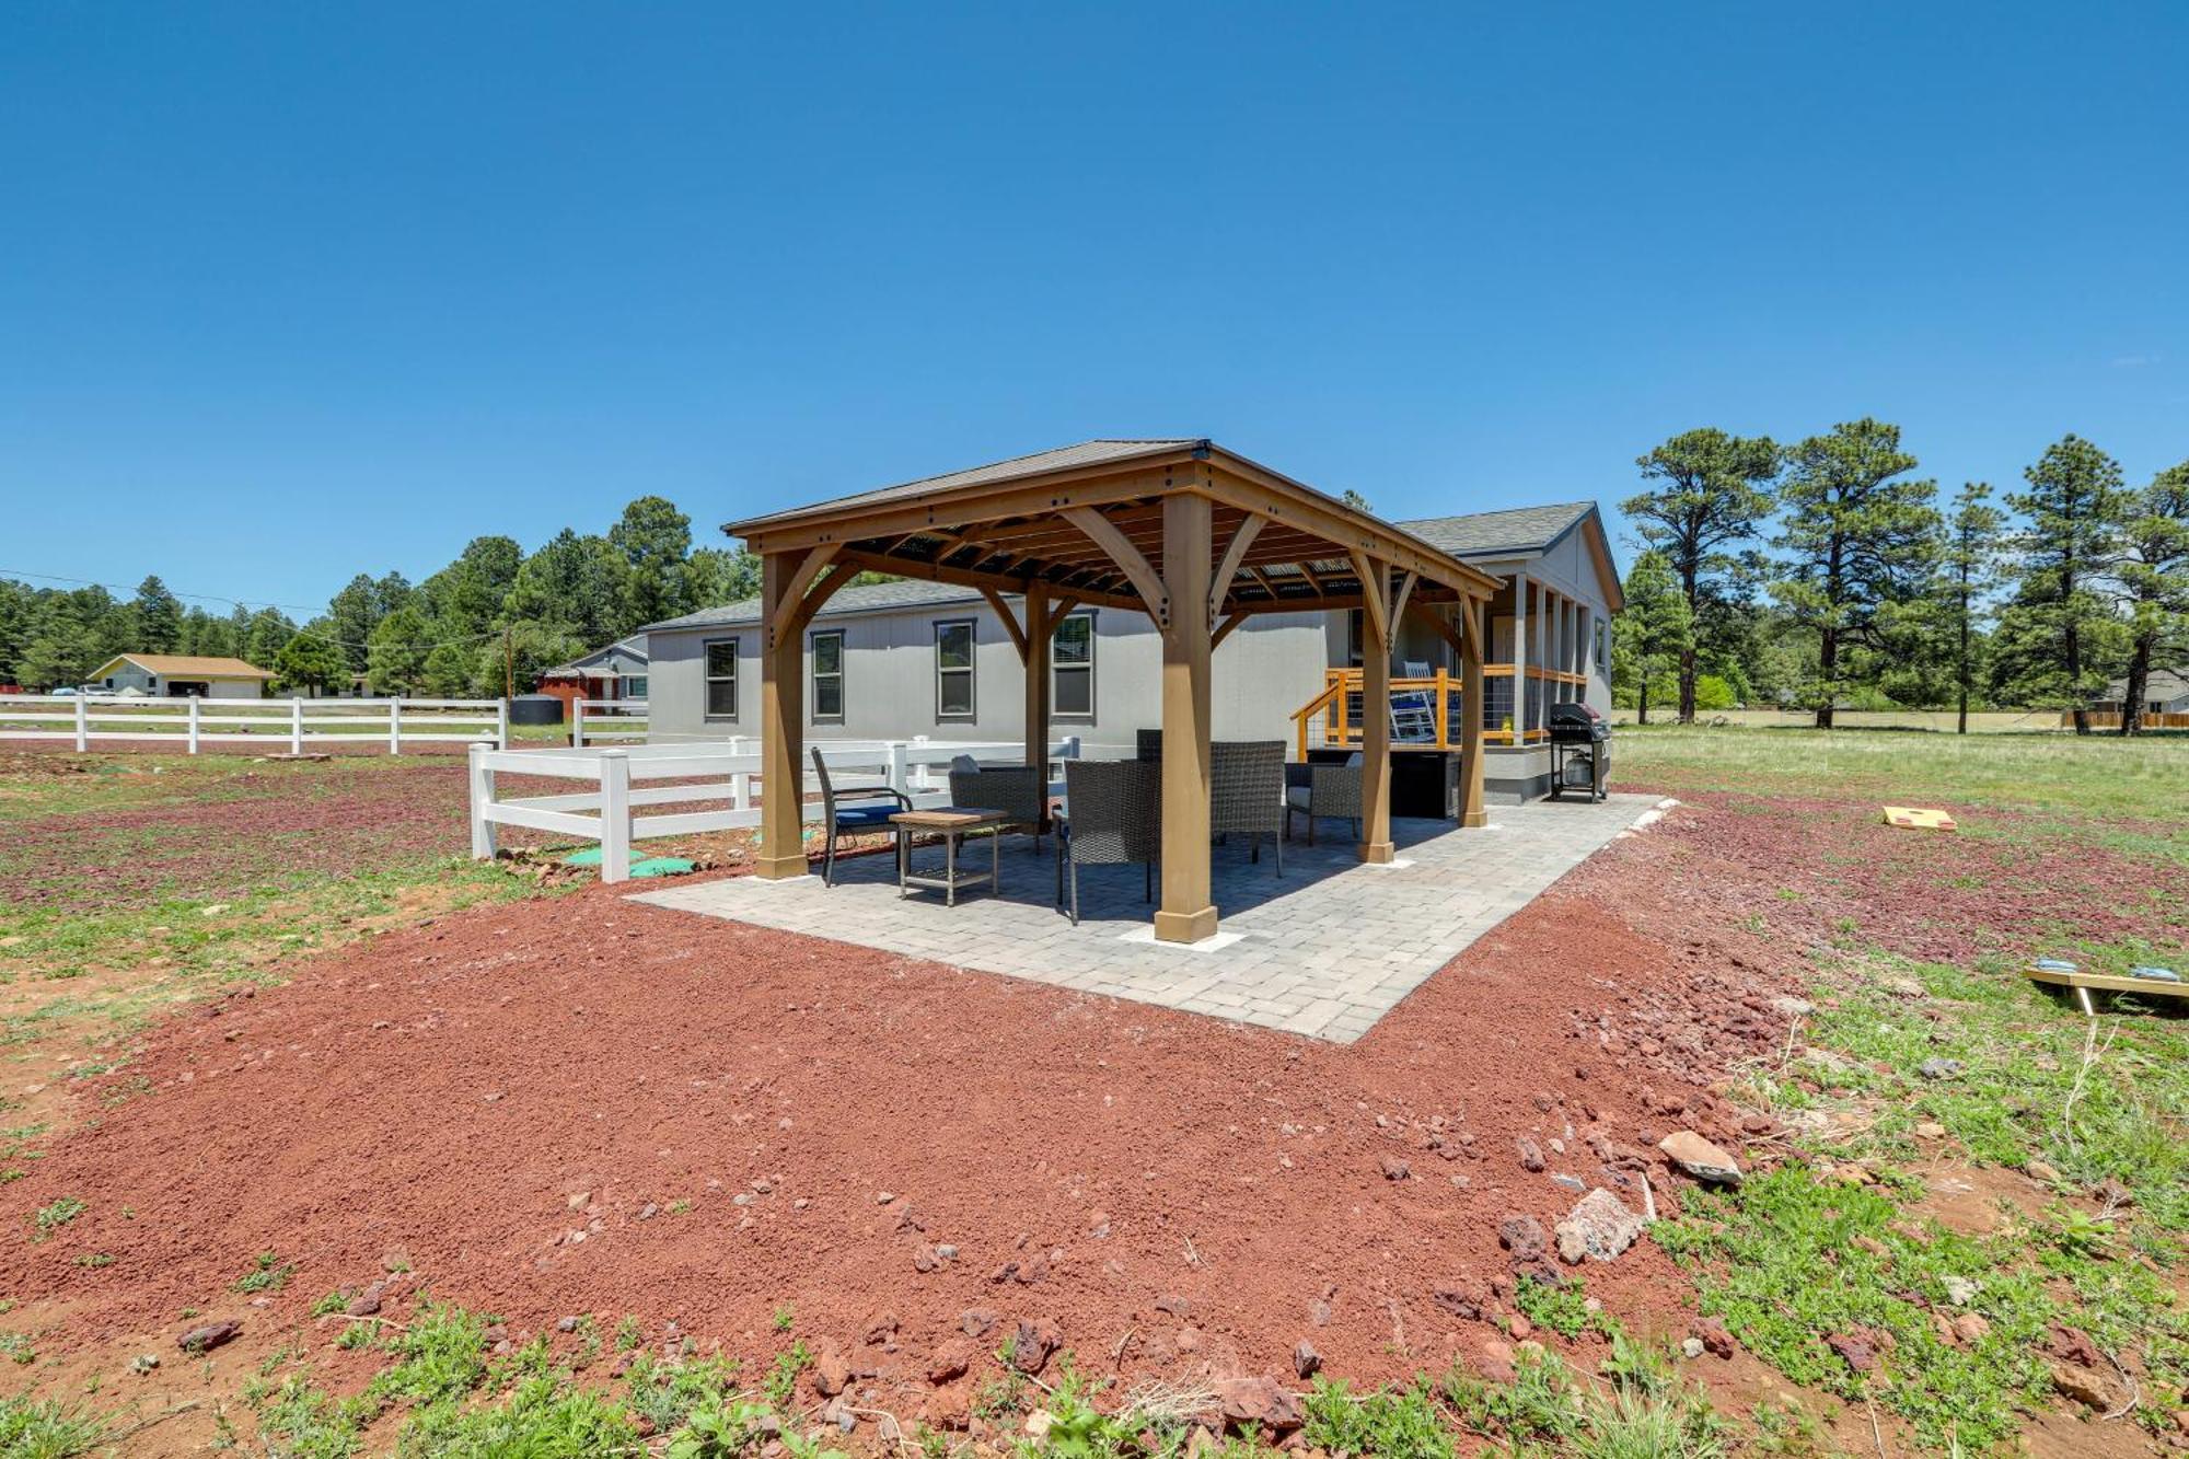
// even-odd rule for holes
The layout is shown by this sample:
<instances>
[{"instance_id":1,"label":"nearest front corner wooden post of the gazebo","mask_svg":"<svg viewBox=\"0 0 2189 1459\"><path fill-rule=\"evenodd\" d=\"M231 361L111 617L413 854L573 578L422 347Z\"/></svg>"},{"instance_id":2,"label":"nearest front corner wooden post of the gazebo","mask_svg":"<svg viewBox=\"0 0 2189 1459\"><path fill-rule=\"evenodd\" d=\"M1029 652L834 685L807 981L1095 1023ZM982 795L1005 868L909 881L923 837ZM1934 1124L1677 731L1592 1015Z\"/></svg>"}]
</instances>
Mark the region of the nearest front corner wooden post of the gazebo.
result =
<instances>
[{"instance_id":1,"label":"nearest front corner wooden post of the gazebo","mask_svg":"<svg viewBox=\"0 0 2189 1459\"><path fill-rule=\"evenodd\" d=\"M1217 931L1208 896L1208 578L1215 508L1208 497L1162 499L1162 907L1156 938L1200 942ZM1149 602L1160 613L1162 605Z\"/></svg>"}]
</instances>

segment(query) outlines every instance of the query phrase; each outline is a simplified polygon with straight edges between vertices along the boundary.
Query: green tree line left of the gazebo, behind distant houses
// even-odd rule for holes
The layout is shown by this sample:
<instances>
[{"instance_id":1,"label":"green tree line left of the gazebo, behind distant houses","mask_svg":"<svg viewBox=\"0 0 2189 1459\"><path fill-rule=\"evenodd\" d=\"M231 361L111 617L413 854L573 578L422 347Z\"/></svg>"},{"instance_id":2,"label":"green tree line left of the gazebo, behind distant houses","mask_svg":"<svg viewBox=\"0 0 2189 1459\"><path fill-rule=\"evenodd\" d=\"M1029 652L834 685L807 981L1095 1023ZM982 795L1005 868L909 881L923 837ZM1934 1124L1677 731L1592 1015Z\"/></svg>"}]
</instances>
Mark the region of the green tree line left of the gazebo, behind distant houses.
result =
<instances>
[{"instance_id":1,"label":"green tree line left of the gazebo, behind distant houses","mask_svg":"<svg viewBox=\"0 0 2189 1459\"><path fill-rule=\"evenodd\" d=\"M475 537L422 583L359 572L304 622L276 607L184 607L158 576L134 598L0 578L0 670L46 690L83 683L116 653L188 653L247 659L278 692L361 681L374 694L493 699L648 622L757 594L753 554L694 548L690 517L639 497L606 532L563 528L532 552Z\"/></svg>"}]
</instances>

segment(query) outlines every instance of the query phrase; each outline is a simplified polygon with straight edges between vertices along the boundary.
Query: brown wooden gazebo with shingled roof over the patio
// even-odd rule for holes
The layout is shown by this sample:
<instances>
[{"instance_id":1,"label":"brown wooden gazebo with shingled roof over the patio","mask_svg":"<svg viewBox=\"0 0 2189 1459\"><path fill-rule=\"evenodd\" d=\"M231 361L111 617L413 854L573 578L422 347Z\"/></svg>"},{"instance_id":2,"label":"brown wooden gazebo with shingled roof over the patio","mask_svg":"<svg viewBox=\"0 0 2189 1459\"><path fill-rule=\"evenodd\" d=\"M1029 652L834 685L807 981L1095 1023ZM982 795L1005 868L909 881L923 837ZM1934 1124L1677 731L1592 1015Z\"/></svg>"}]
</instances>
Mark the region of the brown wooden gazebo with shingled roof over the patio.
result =
<instances>
[{"instance_id":1,"label":"brown wooden gazebo with shingled roof over the patio","mask_svg":"<svg viewBox=\"0 0 2189 1459\"><path fill-rule=\"evenodd\" d=\"M725 526L762 556L762 854L803 876L803 635L873 570L976 587L1027 668L1027 762L1049 743L1049 644L1077 605L1145 611L1162 631L1162 905L1156 938L1217 931L1208 892L1208 664L1254 613L1362 609L1366 703L1388 699L1412 613L1453 644L1469 708L1462 817L1482 815L1482 607L1495 578L1370 513L1211 440L1088 440ZM1022 600L1014 613L1005 596ZM1443 609L1443 611L1440 611ZM1447 618L1449 611L1449 618ZM1362 734L1362 861L1390 861L1390 716Z\"/></svg>"}]
</instances>

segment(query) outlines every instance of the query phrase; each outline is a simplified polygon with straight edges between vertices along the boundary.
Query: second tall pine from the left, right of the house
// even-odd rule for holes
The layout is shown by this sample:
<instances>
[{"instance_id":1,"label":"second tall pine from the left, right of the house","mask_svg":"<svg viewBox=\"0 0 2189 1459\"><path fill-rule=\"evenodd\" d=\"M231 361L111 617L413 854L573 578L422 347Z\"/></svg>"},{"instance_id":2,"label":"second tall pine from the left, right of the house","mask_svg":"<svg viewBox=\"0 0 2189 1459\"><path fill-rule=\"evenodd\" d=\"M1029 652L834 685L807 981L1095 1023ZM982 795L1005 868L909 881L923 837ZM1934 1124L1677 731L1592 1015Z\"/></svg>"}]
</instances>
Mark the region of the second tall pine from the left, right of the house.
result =
<instances>
[{"instance_id":1,"label":"second tall pine from the left, right of the house","mask_svg":"<svg viewBox=\"0 0 2189 1459\"><path fill-rule=\"evenodd\" d=\"M1832 703L1856 677L1850 651L1889 651L1937 561L1937 482L1902 480L1915 464L1900 427L1869 416L1788 453L1777 537L1786 581L1773 594L1817 635L1819 730L1832 727Z\"/></svg>"}]
</instances>

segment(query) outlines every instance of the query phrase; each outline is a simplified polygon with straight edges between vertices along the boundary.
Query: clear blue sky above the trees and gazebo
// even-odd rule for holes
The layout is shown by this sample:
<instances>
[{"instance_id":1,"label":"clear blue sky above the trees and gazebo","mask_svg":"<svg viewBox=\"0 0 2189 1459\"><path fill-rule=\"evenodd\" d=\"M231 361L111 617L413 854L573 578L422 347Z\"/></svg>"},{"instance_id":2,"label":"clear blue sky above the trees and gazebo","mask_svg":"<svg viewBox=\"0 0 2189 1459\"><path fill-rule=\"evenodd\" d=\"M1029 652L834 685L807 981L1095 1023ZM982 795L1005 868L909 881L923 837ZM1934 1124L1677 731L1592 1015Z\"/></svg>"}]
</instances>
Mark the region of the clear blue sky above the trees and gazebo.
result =
<instances>
[{"instance_id":1,"label":"clear blue sky above the trees and gazebo","mask_svg":"<svg viewBox=\"0 0 2189 1459\"><path fill-rule=\"evenodd\" d=\"M0 567L320 605L1206 434L1386 515L2189 456L2189 7L0 9Z\"/></svg>"}]
</instances>

